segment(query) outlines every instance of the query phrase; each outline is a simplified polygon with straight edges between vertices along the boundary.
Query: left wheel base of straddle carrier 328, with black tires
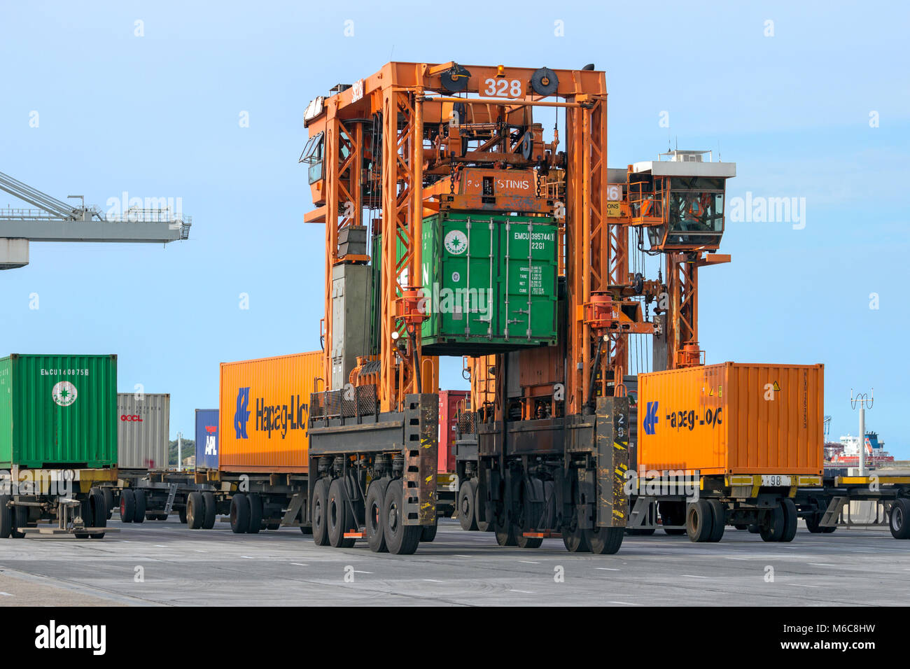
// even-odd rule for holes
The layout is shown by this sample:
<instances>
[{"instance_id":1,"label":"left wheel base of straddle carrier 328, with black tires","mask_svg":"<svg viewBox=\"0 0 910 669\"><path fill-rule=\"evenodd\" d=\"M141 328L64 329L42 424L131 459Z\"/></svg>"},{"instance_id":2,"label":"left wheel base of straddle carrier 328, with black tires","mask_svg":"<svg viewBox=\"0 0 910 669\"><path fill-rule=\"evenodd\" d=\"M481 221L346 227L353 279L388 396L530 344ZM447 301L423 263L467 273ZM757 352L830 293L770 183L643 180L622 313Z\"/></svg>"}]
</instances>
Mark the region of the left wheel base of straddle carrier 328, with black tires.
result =
<instances>
[{"instance_id":1,"label":"left wheel base of straddle carrier 328, with black tires","mask_svg":"<svg viewBox=\"0 0 910 669\"><path fill-rule=\"evenodd\" d=\"M437 528L439 395L408 394L404 411L376 411L376 387L313 393L306 517L313 542L410 554Z\"/></svg>"}]
</instances>

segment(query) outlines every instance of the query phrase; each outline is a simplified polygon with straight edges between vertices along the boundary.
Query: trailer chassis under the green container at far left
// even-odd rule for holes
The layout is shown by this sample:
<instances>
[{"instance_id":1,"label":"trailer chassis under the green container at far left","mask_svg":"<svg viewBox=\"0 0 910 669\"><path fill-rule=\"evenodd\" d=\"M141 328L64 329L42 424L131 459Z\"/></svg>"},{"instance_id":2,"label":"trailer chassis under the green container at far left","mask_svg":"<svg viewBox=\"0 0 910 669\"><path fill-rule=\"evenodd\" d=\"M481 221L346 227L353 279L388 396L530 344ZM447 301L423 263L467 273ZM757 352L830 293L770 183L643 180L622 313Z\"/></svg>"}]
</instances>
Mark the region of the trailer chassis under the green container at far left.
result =
<instances>
[{"instance_id":1,"label":"trailer chassis under the green container at far left","mask_svg":"<svg viewBox=\"0 0 910 669\"><path fill-rule=\"evenodd\" d=\"M102 486L116 470L13 468L0 494L0 538L103 539L108 511ZM12 481L16 481L15 486Z\"/></svg>"}]
</instances>

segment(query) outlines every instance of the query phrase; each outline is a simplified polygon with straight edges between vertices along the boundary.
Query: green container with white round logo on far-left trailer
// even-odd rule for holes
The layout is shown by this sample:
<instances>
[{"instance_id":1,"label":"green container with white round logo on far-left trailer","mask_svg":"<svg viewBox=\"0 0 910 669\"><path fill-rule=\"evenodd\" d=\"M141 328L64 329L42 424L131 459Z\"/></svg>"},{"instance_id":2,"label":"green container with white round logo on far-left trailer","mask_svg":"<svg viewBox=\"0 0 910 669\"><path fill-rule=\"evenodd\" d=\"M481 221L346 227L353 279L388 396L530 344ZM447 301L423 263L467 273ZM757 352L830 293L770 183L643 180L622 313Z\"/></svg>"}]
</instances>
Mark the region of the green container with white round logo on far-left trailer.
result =
<instances>
[{"instance_id":1,"label":"green container with white round logo on far-left trailer","mask_svg":"<svg viewBox=\"0 0 910 669\"><path fill-rule=\"evenodd\" d=\"M0 359L0 468L116 467L116 355Z\"/></svg>"}]
</instances>

